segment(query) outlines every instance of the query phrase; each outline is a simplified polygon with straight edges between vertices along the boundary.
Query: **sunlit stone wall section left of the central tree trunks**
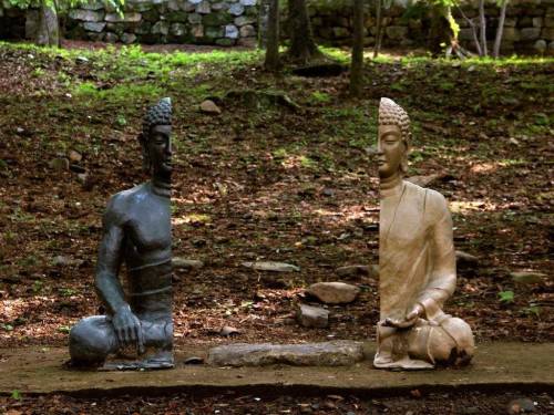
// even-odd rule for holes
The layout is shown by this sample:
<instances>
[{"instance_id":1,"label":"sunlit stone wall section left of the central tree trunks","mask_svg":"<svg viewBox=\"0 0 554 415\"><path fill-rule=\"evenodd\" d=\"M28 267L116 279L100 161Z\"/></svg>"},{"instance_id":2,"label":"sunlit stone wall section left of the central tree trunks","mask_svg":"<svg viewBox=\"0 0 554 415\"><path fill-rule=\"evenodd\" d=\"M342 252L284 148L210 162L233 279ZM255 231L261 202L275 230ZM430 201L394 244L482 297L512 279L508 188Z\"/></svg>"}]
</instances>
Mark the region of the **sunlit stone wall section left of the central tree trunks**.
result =
<instances>
[{"instance_id":1,"label":"sunlit stone wall section left of the central tree trunks","mask_svg":"<svg viewBox=\"0 0 554 415\"><path fill-rule=\"evenodd\" d=\"M127 0L117 13L101 2L69 12L68 38L122 43L254 46L257 0Z\"/></svg>"}]
</instances>

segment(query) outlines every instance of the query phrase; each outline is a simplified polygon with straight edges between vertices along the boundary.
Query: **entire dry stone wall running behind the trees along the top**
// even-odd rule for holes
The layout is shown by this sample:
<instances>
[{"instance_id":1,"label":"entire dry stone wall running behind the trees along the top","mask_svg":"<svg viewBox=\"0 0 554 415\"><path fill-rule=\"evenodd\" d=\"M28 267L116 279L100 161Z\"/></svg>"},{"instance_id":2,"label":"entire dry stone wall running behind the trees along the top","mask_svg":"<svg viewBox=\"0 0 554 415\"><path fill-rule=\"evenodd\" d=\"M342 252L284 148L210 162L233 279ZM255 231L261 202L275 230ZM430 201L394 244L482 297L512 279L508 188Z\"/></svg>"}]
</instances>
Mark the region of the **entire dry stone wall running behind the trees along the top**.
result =
<instances>
[{"instance_id":1,"label":"entire dry stone wall running behind the trees along the top","mask_svg":"<svg viewBox=\"0 0 554 415\"><path fill-rule=\"evenodd\" d=\"M268 0L126 0L119 14L98 0L70 10L64 18L65 37L122 43L193 43L224 46L248 45L263 38ZM369 0L365 43L376 41L375 1ZM554 0L511 0L504 27L502 52L554 54ZM352 38L351 0L308 0L314 33L319 43L349 44ZM475 6L463 8L465 15L476 15ZM488 38L493 42L499 8L486 8ZM384 13L384 46L424 46L430 17L393 6ZM472 49L472 32L461 15L460 40ZM287 24L284 15L284 37ZM28 13L0 0L0 39L31 37L32 11ZM258 33L261 32L261 33Z\"/></svg>"}]
</instances>

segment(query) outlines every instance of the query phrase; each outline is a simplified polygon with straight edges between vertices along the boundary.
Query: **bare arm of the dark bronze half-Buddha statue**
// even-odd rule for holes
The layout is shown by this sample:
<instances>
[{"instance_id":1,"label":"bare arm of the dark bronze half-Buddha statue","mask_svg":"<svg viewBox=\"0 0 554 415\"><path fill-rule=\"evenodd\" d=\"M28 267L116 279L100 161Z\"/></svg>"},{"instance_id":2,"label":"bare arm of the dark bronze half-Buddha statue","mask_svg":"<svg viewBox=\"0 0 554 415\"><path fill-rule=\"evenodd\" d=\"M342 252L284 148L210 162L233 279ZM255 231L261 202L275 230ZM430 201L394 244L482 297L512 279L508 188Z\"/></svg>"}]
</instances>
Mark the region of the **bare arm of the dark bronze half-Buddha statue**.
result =
<instances>
[{"instance_id":1,"label":"bare arm of the dark bronze half-Buddha statue","mask_svg":"<svg viewBox=\"0 0 554 415\"><path fill-rule=\"evenodd\" d=\"M129 307L117 277L122 262L124 232L123 220L116 212L116 200L115 197L112 198L104 215L104 234L100 242L95 276L96 292L112 314L122 307Z\"/></svg>"}]
</instances>

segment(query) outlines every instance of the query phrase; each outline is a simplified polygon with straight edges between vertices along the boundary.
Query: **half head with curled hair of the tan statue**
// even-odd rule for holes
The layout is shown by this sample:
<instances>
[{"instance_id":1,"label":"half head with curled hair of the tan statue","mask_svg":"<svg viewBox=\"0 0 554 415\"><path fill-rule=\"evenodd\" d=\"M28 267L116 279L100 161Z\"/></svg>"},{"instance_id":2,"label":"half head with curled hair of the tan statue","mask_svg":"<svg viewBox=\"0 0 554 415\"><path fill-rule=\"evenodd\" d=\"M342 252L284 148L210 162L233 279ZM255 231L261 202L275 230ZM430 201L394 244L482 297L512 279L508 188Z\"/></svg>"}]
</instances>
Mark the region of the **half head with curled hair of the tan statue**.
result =
<instances>
[{"instance_id":1,"label":"half head with curled hair of the tan statue","mask_svg":"<svg viewBox=\"0 0 554 415\"><path fill-rule=\"evenodd\" d=\"M389 98L379 105L379 177L403 176L408 172L410 118L406 111Z\"/></svg>"}]
</instances>

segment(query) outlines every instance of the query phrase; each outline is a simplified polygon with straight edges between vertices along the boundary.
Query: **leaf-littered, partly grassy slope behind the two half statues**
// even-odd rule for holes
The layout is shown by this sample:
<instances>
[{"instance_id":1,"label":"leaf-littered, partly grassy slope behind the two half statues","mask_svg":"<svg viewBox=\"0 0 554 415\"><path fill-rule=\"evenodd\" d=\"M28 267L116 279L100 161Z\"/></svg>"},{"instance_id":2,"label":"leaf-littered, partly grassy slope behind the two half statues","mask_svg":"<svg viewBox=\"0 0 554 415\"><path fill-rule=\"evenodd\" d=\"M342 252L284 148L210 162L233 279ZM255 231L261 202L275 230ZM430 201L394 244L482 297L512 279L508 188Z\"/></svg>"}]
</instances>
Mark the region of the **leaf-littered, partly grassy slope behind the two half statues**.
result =
<instances>
[{"instance_id":1,"label":"leaf-littered, partly grassy slope behind the two half statues","mask_svg":"<svg viewBox=\"0 0 554 415\"><path fill-rule=\"evenodd\" d=\"M275 77L261 61L245 50L0 43L0 346L64 345L72 324L103 312L93 288L102 212L110 195L145 179L136 136L162 96L174 103L174 256L204 262L175 272L177 346L375 339L371 274L347 280L361 294L330 307L329 329L291 315L310 283L378 263L368 148L381 96L411 116L409 176L438 175L430 187L450 201L456 249L479 258L460 267L447 312L478 342L554 340L554 60L368 60L360 100L348 96L347 74ZM297 105L225 97L247 90ZM199 111L207 97L222 114ZM242 266L253 260L300 271ZM521 270L550 279L515 283L510 272ZM239 333L224 338L224 325Z\"/></svg>"}]
</instances>

